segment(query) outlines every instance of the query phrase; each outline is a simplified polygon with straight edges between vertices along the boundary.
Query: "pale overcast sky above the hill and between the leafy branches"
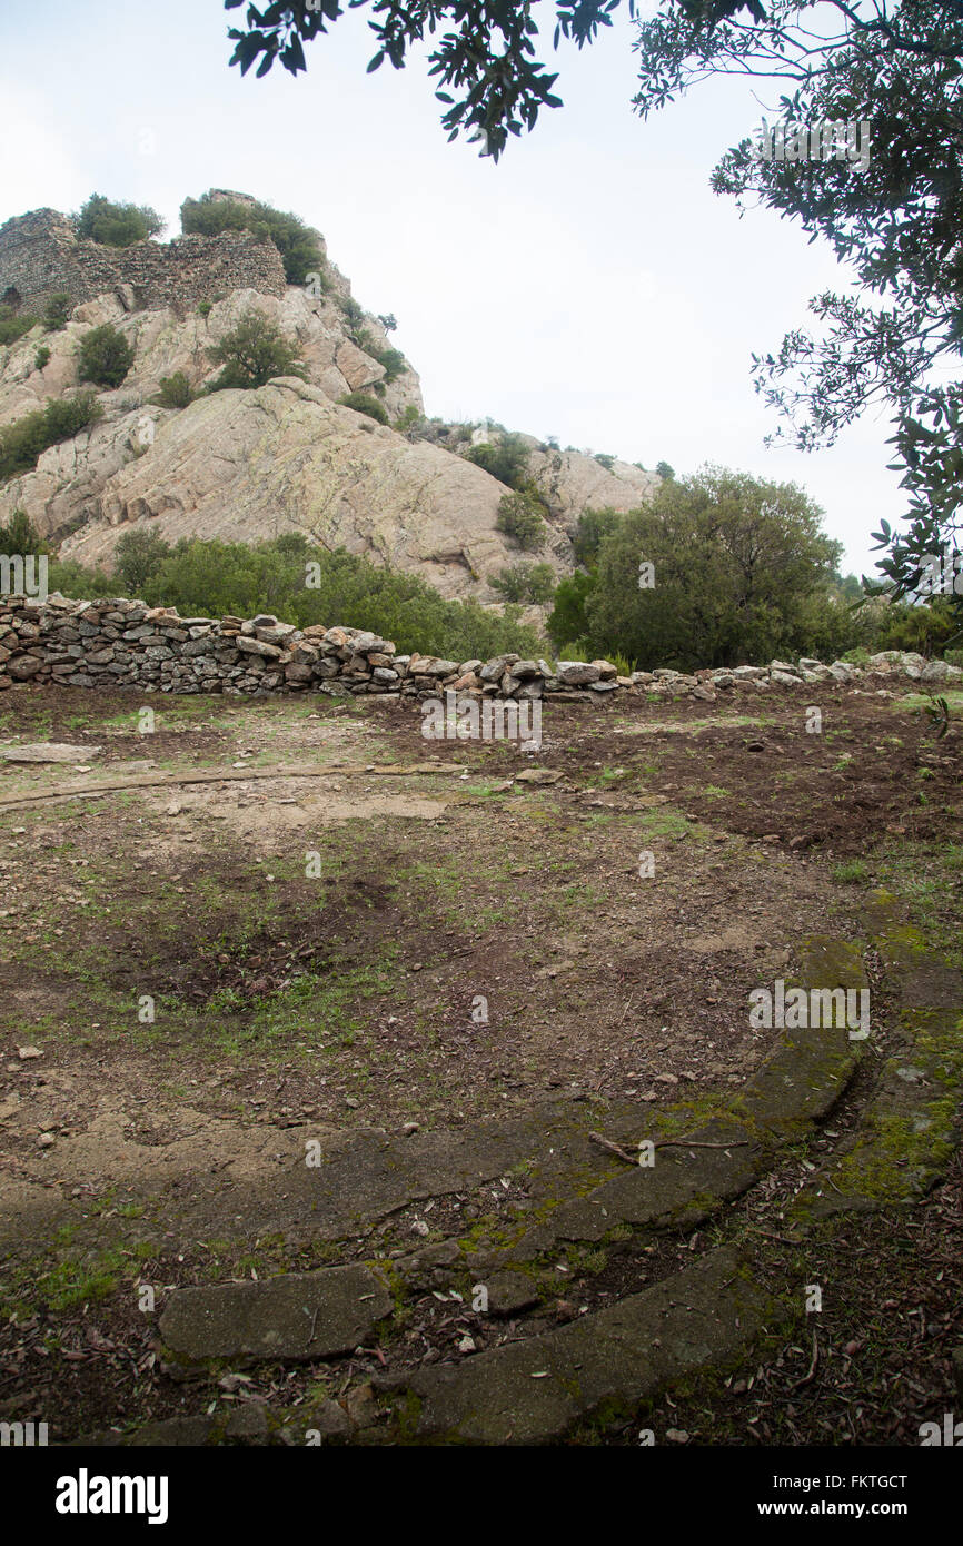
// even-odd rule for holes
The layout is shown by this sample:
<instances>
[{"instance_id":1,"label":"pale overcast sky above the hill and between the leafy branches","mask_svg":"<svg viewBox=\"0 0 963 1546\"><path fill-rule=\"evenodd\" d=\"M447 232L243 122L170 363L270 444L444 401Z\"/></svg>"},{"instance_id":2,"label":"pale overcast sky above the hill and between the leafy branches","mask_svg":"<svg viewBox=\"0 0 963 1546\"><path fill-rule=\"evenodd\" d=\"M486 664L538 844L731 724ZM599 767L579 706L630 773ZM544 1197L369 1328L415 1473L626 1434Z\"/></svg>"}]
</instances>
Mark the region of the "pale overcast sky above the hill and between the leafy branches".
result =
<instances>
[{"instance_id":1,"label":"pale overcast sky above the hill and between the leafy branches","mask_svg":"<svg viewBox=\"0 0 963 1546\"><path fill-rule=\"evenodd\" d=\"M541 5L536 11L543 9ZM546 6L546 9L549 9ZM753 388L805 305L847 272L770 210L716 196L719 158L778 117L773 85L711 80L648 121L628 17L558 56L564 108L495 164L447 142L424 59L374 53L365 11L306 48L308 73L229 68L221 0L34 0L0 14L0 223L91 193L153 206L179 233L185 196L236 189L323 232L357 300L444 419L617 455L677 475L706 462L796 482L872 574L870 532L904 510L872 411L839 442L767 447ZM549 40L550 42L550 40Z\"/></svg>"}]
</instances>

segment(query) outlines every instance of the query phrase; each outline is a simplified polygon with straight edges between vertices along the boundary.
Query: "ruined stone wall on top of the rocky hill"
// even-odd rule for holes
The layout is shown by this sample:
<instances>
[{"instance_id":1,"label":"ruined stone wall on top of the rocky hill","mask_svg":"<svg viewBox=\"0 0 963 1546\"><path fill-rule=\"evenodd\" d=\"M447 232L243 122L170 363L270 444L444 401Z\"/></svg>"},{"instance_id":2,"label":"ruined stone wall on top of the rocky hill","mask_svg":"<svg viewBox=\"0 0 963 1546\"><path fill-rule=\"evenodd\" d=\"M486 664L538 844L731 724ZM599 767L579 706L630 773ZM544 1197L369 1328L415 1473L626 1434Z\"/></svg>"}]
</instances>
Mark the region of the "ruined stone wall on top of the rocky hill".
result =
<instances>
[{"instance_id":1,"label":"ruined stone wall on top of the rocky hill","mask_svg":"<svg viewBox=\"0 0 963 1546\"><path fill-rule=\"evenodd\" d=\"M42 311L59 292L74 305L119 294L128 309L153 309L196 306L235 289L283 295L284 286L280 252L247 230L104 247L79 238L54 209L31 210L0 226L0 305L20 311Z\"/></svg>"}]
</instances>

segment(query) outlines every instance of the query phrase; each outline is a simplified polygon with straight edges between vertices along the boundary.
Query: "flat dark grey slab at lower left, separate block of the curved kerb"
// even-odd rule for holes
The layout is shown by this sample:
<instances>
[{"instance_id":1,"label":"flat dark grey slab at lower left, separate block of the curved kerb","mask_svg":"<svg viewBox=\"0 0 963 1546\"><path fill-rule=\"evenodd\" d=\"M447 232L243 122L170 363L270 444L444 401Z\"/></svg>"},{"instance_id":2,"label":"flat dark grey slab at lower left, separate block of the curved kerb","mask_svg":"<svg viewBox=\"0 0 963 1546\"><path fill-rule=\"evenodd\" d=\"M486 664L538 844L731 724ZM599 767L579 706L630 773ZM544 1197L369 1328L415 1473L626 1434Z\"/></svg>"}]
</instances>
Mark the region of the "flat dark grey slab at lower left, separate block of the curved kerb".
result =
<instances>
[{"instance_id":1,"label":"flat dark grey slab at lower left, separate block of the curved kerb","mask_svg":"<svg viewBox=\"0 0 963 1546\"><path fill-rule=\"evenodd\" d=\"M391 1311L391 1296L365 1266L289 1272L263 1283L181 1288L161 1316L165 1347L202 1359L306 1359L351 1353Z\"/></svg>"}]
</instances>

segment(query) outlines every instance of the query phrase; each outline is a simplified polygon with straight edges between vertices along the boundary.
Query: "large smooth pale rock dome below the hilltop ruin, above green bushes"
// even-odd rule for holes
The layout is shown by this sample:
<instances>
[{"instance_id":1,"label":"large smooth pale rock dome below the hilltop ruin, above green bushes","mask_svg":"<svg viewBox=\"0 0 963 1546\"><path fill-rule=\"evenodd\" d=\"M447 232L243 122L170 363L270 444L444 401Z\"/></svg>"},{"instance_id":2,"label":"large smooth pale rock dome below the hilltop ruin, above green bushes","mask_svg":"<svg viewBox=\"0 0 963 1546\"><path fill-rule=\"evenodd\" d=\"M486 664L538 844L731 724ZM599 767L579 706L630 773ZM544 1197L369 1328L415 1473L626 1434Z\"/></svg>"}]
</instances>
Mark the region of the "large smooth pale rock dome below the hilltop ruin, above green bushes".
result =
<instances>
[{"instance_id":1,"label":"large smooth pale rock dome below the hilltop ruin, above green bushes","mask_svg":"<svg viewBox=\"0 0 963 1546\"><path fill-rule=\"evenodd\" d=\"M167 541L301 532L467 595L513 558L495 530L502 493L471 462L286 377L215 393L158 422L150 455L107 479L94 519L62 552L110 563L122 532L142 521Z\"/></svg>"}]
</instances>

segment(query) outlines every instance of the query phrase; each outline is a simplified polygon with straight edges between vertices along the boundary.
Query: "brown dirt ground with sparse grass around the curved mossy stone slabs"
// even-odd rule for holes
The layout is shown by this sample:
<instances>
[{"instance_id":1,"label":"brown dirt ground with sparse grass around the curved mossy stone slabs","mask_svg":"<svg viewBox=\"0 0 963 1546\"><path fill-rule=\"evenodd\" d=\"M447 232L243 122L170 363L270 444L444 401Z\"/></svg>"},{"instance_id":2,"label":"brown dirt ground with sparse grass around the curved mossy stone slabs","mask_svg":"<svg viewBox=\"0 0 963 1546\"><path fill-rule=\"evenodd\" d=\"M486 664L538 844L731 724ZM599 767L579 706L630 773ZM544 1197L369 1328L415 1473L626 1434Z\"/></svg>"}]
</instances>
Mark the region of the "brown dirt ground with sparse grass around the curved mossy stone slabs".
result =
<instances>
[{"instance_id":1,"label":"brown dirt ground with sparse grass around the curved mossy stone slabs","mask_svg":"<svg viewBox=\"0 0 963 1546\"><path fill-rule=\"evenodd\" d=\"M870 886L963 965L960 725L937 741L921 700L881 679L807 693L549 703L533 754L424 741L417 707L385 700L151 696L141 733L128 693L8 691L0 1418L49 1410L54 1387L68 1435L182 1410L130 1285L323 1258L301 1237L261 1240L254 1203L218 1220L219 1243L187 1237L201 1177L236 1201L306 1130L447 1132L543 1101L641 1110L739 1090L774 1036L750 1028L750 991L790 979L807 935L858 943ZM6 759L34 742L83 761ZM957 1172L907 1223L957 1279L958 1187ZM853 1237L853 1313L864 1294L872 1319L872 1231ZM897 1282L886 1252L903 1249L880 1246L878 1277ZM620 1291L626 1263L606 1271L583 1271L584 1296ZM900 1282L883 1297L903 1305ZM898 1438L883 1393L909 1362L941 1399L948 1354L927 1326L954 1331L935 1300L923 1353L903 1325L878 1351L861 1398L875 1441ZM461 1308L439 1305L390 1357L464 1334ZM829 1416L807 1415L807 1384L787 1418L773 1365L744 1441L827 1442L824 1421L842 1436L870 1340L841 1323ZM787 1384L808 1367L798 1353ZM288 1391L305 1377L271 1376ZM674 1427L730 1442L723 1407L706 1418L694 1398Z\"/></svg>"}]
</instances>

